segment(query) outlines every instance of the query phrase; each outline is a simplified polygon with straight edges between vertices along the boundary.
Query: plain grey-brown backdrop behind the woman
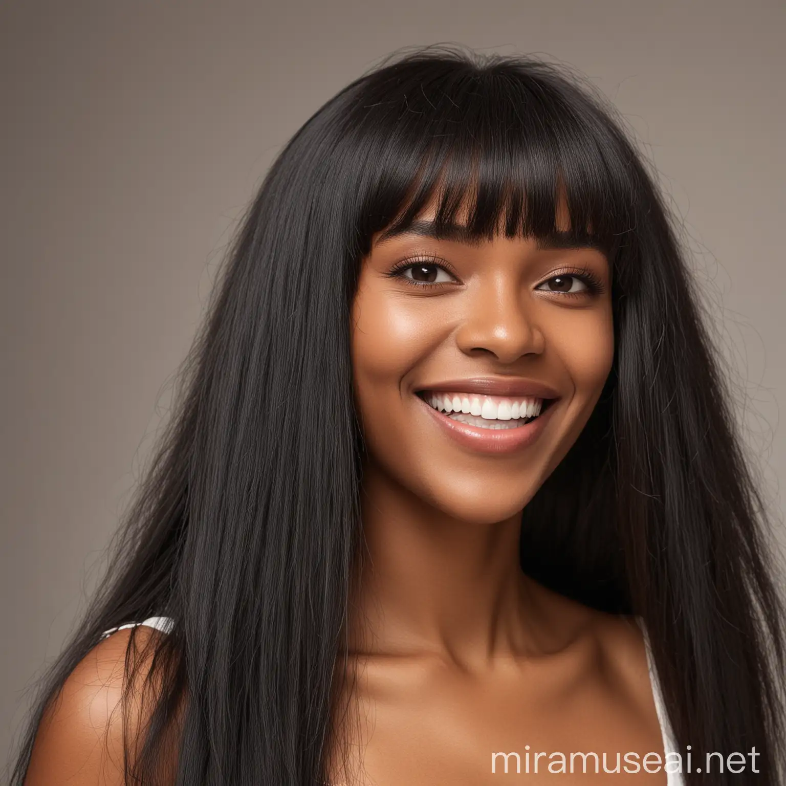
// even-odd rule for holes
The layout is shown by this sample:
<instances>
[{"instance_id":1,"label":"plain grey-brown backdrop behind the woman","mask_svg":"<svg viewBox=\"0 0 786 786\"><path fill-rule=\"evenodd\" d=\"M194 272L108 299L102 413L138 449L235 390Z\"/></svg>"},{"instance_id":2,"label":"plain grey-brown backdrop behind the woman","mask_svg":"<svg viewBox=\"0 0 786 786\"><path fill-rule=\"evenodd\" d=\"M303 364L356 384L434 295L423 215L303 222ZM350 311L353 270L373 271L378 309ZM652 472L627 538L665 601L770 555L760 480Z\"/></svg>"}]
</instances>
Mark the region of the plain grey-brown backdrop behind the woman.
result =
<instances>
[{"instance_id":1,"label":"plain grey-brown backdrop behind the woman","mask_svg":"<svg viewBox=\"0 0 786 786\"><path fill-rule=\"evenodd\" d=\"M786 539L784 34L780 0L0 6L0 764L241 209L300 124L401 46L542 53L623 112L685 224Z\"/></svg>"}]
</instances>

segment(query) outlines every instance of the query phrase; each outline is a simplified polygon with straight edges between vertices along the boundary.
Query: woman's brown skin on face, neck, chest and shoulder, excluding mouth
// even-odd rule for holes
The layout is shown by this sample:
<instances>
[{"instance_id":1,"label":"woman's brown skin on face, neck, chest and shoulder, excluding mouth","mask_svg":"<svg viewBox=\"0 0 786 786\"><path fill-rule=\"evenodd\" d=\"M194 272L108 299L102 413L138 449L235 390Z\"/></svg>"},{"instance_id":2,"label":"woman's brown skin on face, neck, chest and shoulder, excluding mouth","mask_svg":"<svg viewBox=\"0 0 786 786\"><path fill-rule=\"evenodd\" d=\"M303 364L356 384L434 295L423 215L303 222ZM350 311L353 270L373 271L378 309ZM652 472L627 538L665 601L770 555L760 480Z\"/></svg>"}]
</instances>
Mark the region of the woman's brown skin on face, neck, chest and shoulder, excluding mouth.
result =
<instances>
[{"instance_id":1,"label":"woman's brown skin on face, neck, chest and shoulder, excluding mouth","mask_svg":"<svg viewBox=\"0 0 786 786\"><path fill-rule=\"evenodd\" d=\"M587 773L581 758L573 774L549 773L548 756L533 771L537 751L606 751L612 767L617 751L639 761L663 754L637 626L545 589L518 561L520 513L575 442L611 369L608 260L531 238L428 237L432 215L423 211L419 232L374 238L354 301L366 549L348 626L354 681L343 696L356 711L340 726L346 746L332 751L332 780L664 786L662 770L596 775L591 758ZM436 425L416 395L478 377L539 380L559 394L538 439L476 450ZM28 786L123 783L112 710L128 636L101 642L68 678L39 730ZM145 717L131 709L133 733ZM492 773L498 751L517 751L521 773L512 758L507 775L501 758ZM165 762L163 782L174 764Z\"/></svg>"}]
</instances>

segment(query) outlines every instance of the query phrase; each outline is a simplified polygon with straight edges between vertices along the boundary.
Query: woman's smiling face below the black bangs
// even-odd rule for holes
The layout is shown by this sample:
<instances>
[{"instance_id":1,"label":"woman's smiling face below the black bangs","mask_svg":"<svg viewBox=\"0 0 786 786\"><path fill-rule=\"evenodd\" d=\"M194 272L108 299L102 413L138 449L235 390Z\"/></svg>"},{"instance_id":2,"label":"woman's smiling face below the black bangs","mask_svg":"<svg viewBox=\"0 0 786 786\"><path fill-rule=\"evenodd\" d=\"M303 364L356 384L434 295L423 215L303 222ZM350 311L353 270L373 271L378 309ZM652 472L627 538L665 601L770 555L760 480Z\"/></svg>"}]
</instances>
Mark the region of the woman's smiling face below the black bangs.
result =
<instances>
[{"instance_id":1,"label":"woman's smiling face below the black bangs","mask_svg":"<svg viewBox=\"0 0 786 786\"><path fill-rule=\"evenodd\" d=\"M461 218L436 238L432 216L374 237L362 263L352 355L367 471L457 519L501 521L601 395L614 355L608 260L531 238L470 241Z\"/></svg>"}]
</instances>

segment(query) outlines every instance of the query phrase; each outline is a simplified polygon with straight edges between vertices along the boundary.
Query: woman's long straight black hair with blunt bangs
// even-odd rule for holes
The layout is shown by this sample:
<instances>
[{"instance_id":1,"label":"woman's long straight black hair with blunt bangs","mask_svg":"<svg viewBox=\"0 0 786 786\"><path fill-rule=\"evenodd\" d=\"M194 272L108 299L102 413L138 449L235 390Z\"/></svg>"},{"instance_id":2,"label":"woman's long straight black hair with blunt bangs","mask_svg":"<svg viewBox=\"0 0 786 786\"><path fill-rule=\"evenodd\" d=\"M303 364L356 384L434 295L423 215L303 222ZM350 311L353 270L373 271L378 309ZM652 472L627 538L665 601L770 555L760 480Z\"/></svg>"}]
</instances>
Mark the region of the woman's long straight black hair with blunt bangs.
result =
<instances>
[{"instance_id":1,"label":"woman's long straight black hair with blunt bangs","mask_svg":"<svg viewBox=\"0 0 786 786\"><path fill-rule=\"evenodd\" d=\"M615 360L523 512L523 570L641 615L681 749L760 754L758 776L714 784L783 782L784 616L766 506L651 167L567 68L430 48L347 86L267 174L105 585L42 687L17 783L47 702L101 632L151 615L174 628L156 640L156 708L128 782L154 782L178 707L178 784L328 780L362 532L360 262L373 233L428 200L438 223L469 200L479 236L545 237L560 195L577 237L611 260Z\"/></svg>"}]
</instances>

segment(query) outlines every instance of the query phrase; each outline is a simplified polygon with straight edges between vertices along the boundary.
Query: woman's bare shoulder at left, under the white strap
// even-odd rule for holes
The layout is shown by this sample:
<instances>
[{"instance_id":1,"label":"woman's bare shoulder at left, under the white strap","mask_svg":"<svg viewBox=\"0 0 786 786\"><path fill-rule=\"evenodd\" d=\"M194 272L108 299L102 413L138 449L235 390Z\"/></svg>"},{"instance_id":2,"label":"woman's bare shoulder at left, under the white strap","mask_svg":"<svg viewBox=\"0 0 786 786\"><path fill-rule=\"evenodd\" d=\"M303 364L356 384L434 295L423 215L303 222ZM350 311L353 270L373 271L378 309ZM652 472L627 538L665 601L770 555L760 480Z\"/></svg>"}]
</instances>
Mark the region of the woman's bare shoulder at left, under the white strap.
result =
<instances>
[{"instance_id":1,"label":"woman's bare shoulder at left, under the white strap","mask_svg":"<svg viewBox=\"0 0 786 786\"><path fill-rule=\"evenodd\" d=\"M25 786L123 784L124 740L139 731L148 645L160 635L148 627L119 630L77 664L39 725ZM132 685L129 655L137 661Z\"/></svg>"}]
</instances>

